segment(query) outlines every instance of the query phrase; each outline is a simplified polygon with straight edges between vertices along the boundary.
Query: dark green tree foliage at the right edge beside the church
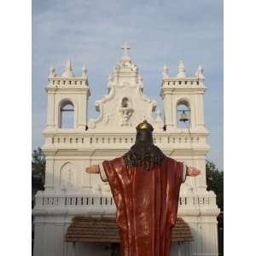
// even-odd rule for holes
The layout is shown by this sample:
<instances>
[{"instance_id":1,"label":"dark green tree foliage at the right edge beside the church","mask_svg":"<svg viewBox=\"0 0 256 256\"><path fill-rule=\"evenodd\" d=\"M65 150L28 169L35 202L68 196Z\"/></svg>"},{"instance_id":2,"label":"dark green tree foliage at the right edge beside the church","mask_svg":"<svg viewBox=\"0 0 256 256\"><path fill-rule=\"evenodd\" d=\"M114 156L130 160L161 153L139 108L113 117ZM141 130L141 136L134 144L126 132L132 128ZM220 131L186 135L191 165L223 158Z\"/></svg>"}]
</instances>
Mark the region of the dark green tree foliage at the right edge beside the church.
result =
<instances>
[{"instance_id":1,"label":"dark green tree foliage at the right edge beside the church","mask_svg":"<svg viewBox=\"0 0 256 256\"><path fill-rule=\"evenodd\" d=\"M224 172L219 171L218 168L209 160L207 160L207 189L213 190L217 196L217 205L220 211L224 211L223 204L223 186L224 186Z\"/></svg>"}]
</instances>

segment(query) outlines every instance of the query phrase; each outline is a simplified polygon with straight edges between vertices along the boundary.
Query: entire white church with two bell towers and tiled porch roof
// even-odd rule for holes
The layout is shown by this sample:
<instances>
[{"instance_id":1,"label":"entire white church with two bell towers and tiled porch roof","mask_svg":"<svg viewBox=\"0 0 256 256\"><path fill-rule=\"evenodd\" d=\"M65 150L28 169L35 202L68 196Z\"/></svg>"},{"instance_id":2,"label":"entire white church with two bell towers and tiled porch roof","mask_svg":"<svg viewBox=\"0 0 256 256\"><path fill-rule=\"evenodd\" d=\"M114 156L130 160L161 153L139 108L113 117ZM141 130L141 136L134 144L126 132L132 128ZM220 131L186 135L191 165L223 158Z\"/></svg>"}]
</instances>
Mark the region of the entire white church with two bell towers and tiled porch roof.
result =
<instances>
[{"instance_id":1,"label":"entire white church with two bell towers and tiled porch roof","mask_svg":"<svg viewBox=\"0 0 256 256\"><path fill-rule=\"evenodd\" d=\"M71 61L61 75L51 67L44 129L45 189L33 210L34 256L112 255L119 234L108 183L85 168L125 154L144 119L154 127L154 143L175 160L201 170L187 177L172 230L172 255L218 255L216 195L207 191L208 131L204 122L203 69L187 76L183 61L177 76L162 70L159 84L164 113L143 95L143 79L128 54L113 67L108 93L96 101L96 119L88 119L90 84L85 67L74 76ZM183 119L180 117L183 116Z\"/></svg>"}]
</instances>

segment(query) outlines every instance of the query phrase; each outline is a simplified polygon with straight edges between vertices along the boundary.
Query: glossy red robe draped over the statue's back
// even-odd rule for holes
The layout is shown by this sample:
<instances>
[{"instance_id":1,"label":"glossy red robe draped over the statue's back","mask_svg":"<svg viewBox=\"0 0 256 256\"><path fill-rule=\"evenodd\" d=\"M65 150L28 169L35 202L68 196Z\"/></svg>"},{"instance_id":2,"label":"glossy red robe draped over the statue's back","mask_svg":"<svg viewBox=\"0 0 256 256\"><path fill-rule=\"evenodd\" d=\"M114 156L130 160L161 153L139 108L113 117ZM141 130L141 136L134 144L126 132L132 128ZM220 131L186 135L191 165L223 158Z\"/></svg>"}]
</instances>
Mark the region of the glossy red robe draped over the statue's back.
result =
<instances>
[{"instance_id":1,"label":"glossy red robe draped over the statue's back","mask_svg":"<svg viewBox=\"0 0 256 256\"><path fill-rule=\"evenodd\" d=\"M169 256L183 164L165 157L153 170L126 169L122 157L103 162L117 207L123 256Z\"/></svg>"}]
</instances>

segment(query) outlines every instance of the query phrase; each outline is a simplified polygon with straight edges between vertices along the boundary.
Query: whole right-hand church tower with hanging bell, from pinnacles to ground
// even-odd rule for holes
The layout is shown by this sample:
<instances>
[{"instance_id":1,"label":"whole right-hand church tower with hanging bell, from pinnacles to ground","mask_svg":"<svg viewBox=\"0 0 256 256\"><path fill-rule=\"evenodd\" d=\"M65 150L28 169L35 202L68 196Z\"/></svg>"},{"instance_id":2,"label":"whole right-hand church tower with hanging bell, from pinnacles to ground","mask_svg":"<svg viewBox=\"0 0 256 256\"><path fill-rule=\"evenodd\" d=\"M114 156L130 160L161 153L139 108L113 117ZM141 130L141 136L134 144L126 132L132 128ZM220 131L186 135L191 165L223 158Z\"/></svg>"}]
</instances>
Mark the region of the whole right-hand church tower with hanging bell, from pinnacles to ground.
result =
<instances>
[{"instance_id":1,"label":"whole right-hand church tower with hanging bell, from pinnacles to ground","mask_svg":"<svg viewBox=\"0 0 256 256\"><path fill-rule=\"evenodd\" d=\"M201 170L201 175L187 177L183 183L178 215L189 223L195 237L190 253L218 255L219 209L216 195L207 191L206 155L210 147L204 121L205 90L201 67L194 77L187 76L183 61L179 61L176 77L170 77L168 68L163 68L160 96L164 101L165 132L172 152L168 156Z\"/></svg>"}]
</instances>

